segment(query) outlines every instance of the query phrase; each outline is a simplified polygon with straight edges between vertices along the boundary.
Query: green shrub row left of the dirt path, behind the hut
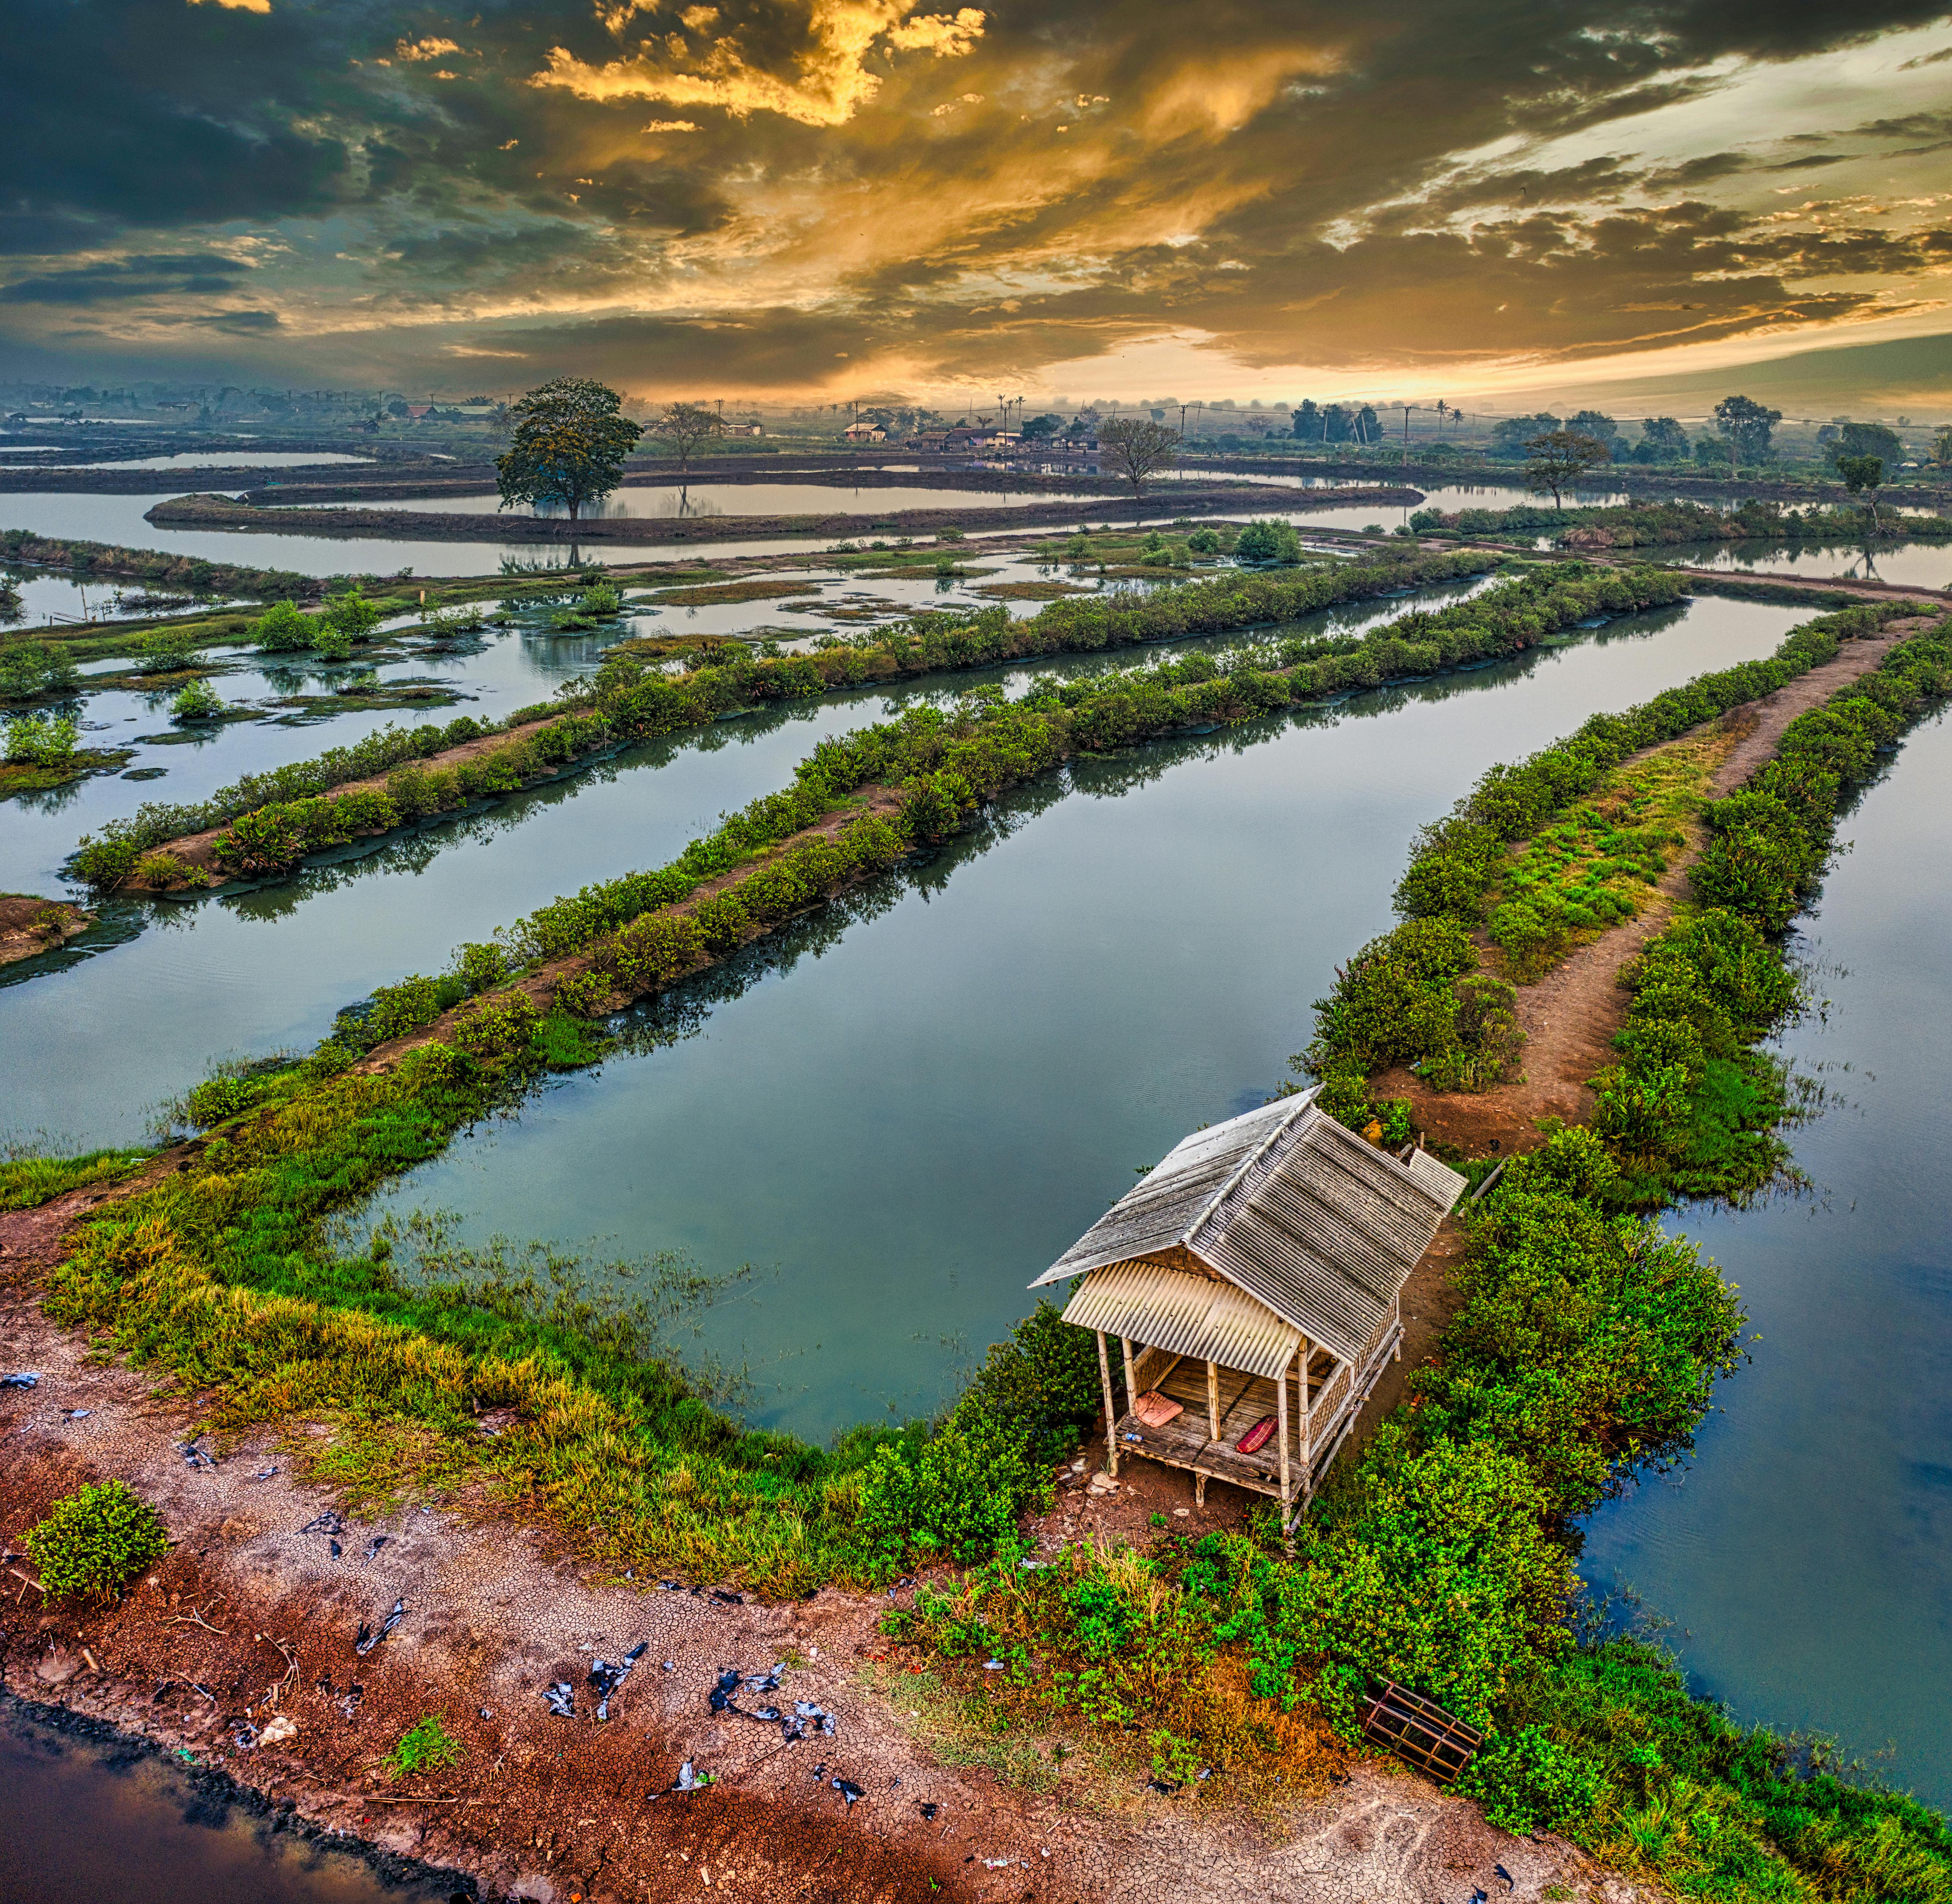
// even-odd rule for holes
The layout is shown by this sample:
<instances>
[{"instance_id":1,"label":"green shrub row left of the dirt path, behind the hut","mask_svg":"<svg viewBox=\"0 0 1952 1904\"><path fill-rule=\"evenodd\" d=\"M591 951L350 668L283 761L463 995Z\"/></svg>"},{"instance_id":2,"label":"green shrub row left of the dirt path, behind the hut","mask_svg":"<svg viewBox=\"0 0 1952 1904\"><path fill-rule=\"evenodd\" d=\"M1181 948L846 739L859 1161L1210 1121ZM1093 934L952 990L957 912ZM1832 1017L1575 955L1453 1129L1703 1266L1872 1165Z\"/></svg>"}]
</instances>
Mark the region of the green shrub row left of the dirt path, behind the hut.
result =
<instances>
[{"instance_id":1,"label":"green shrub row left of the dirt path, behind the hut","mask_svg":"<svg viewBox=\"0 0 1952 1904\"><path fill-rule=\"evenodd\" d=\"M1515 994L1480 971L1472 931L1485 922L1507 848L1585 799L1630 754L1774 693L1833 660L1845 641L1911 613L1915 603L1821 615L1792 629L1769 660L1696 676L1620 715L1593 715L1528 760L1491 767L1417 836L1396 889L1403 924L1364 945L1316 1000L1316 1035L1296 1066L1322 1080L1323 1107L1361 1129L1376 1115L1368 1078L1396 1064L1446 1092L1505 1078L1521 1049Z\"/></svg>"}]
</instances>

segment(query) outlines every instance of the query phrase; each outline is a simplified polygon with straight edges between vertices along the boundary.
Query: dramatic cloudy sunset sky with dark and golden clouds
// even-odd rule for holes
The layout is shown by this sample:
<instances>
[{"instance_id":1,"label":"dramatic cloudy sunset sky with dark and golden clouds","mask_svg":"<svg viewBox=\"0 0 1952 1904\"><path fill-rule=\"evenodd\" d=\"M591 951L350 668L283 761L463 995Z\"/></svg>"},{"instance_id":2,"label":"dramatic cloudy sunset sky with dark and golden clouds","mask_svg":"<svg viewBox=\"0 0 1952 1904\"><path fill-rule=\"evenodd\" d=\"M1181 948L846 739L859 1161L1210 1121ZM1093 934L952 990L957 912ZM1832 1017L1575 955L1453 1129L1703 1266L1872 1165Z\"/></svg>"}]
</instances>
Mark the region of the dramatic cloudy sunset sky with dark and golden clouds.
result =
<instances>
[{"instance_id":1,"label":"dramatic cloudy sunset sky with dark and golden clouds","mask_svg":"<svg viewBox=\"0 0 1952 1904\"><path fill-rule=\"evenodd\" d=\"M927 6L14 0L0 377L1952 412L1942 0Z\"/></svg>"}]
</instances>

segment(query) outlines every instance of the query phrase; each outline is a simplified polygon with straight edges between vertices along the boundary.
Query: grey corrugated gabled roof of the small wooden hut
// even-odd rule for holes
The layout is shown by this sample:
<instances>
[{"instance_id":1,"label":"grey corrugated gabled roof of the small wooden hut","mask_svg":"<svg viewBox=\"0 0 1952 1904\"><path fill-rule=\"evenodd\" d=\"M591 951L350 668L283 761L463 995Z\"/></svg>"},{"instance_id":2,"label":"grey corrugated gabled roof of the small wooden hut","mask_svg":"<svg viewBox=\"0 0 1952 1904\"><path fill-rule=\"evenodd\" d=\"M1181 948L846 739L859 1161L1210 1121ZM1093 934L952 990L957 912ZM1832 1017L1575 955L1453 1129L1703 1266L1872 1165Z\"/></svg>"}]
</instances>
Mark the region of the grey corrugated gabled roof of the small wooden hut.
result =
<instances>
[{"instance_id":1,"label":"grey corrugated gabled roof of the small wooden hut","mask_svg":"<svg viewBox=\"0 0 1952 1904\"><path fill-rule=\"evenodd\" d=\"M1462 1189L1462 1176L1421 1150L1409 1162L1376 1150L1316 1109L1310 1092L1197 1131L1037 1283L1185 1248L1296 1332L1353 1361ZM1158 1342L1140 1328L1117 1334Z\"/></svg>"}]
</instances>

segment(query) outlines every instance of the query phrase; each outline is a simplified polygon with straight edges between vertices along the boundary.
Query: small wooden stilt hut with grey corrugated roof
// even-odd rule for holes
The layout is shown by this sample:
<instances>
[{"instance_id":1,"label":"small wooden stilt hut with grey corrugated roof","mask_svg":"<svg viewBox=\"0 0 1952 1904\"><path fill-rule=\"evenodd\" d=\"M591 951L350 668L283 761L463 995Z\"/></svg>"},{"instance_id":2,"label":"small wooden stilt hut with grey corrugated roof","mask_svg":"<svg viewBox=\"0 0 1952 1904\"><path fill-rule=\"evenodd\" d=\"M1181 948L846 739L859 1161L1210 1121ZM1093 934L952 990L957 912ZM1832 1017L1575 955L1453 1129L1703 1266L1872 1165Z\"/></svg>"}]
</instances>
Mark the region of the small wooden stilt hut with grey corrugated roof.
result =
<instances>
[{"instance_id":1,"label":"small wooden stilt hut with grey corrugated roof","mask_svg":"<svg viewBox=\"0 0 1952 1904\"><path fill-rule=\"evenodd\" d=\"M1314 1099L1195 1131L1031 1285L1081 1279L1064 1320L1097 1334L1109 1472L1146 1455L1200 1502L1208 1478L1273 1494L1284 1533L1402 1353L1403 1283L1466 1181Z\"/></svg>"}]
</instances>

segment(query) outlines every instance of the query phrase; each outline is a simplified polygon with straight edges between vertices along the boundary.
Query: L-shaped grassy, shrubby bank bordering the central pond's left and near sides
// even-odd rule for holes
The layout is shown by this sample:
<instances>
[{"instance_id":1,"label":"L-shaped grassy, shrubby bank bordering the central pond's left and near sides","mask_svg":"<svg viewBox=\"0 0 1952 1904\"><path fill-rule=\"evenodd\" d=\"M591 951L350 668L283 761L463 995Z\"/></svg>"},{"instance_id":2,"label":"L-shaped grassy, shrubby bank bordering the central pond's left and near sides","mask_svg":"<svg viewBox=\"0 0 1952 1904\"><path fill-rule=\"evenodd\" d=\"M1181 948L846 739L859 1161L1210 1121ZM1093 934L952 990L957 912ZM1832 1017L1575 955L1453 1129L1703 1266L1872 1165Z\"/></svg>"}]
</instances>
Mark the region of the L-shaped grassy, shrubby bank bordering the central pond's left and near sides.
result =
<instances>
[{"instance_id":1,"label":"L-shaped grassy, shrubby bank bordering the central pond's left and near sides","mask_svg":"<svg viewBox=\"0 0 1952 1904\"><path fill-rule=\"evenodd\" d=\"M1417 633L1431 631L1421 642L1400 631L1386 639L1429 670L1673 594L1659 572L1554 570L1421 617ZM1078 1371L1050 1347L1048 1328L1003 1353L994 1375L1013 1394L1048 1394L1046 1426L1019 1408L1005 1428L978 1406L955 1433L861 1435L814 1451L746 1435L709 1410L640 1353L652 1344L629 1304L597 1314L519 1279L482 1279L480 1265L467 1275L404 1267L385 1244L346 1258L322 1222L435 1154L453 1131L517 1103L543 1066L590 1055L590 1033L560 1004L541 1012L509 988L517 965L609 935L613 963L593 967L605 984L670 982L937 838L974 799L1046 771L1072 748L1247 719L1331 682L1376 678L1394 652L1364 641L1300 646L1312 658L1286 676L1212 678L1197 656L1017 705L978 697L953 717L923 709L824 744L793 789L734 814L671 867L558 900L500 943L463 947L445 978L385 988L305 1062L201 1088L189 1113L207 1142L187 1170L82 1224L53 1283L57 1312L215 1392L223 1424L297 1408L338 1414L344 1433L320 1459L351 1490L482 1472L502 1498L574 1527L580 1545L601 1527L593 1552L619 1568L736 1574L796 1592L886 1572L917 1539L974 1554L984 1529L1007 1527L1038 1492L1052 1437L1091 1408L1087 1387L1081 1400L1072 1392ZM894 810L841 818L869 783L900 785ZM835 824L777 851L820 820ZM675 910L677 892L728 873L740 875L734 885ZM386 1070L355 1068L381 1039L463 1002L441 1041ZM484 1443L474 1410L500 1406L523 1426ZM880 1443L892 1453L874 1461Z\"/></svg>"}]
</instances>

